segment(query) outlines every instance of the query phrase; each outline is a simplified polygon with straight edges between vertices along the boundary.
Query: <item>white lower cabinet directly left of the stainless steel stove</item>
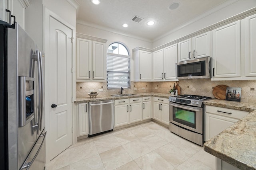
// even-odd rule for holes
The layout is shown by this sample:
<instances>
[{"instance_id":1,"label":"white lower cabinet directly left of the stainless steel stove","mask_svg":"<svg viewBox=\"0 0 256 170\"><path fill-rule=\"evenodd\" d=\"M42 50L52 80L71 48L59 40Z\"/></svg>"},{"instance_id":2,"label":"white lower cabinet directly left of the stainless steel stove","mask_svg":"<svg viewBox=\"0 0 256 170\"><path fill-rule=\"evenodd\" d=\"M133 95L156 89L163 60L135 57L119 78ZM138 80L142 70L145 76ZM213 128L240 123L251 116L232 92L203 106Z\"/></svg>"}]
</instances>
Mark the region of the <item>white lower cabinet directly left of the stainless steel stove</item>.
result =
<instances>
[{"instance_id":1,"label":"white lower cabinet directly left of the stainless steel stove","mask_svg":"<svg viewBox=\"0 0 256 170\"><path fill-rule=\"evenodd\" d=\"M169 125L169 100L167 98L154 97L153 119Z\"/></svg>"}]
</instances>

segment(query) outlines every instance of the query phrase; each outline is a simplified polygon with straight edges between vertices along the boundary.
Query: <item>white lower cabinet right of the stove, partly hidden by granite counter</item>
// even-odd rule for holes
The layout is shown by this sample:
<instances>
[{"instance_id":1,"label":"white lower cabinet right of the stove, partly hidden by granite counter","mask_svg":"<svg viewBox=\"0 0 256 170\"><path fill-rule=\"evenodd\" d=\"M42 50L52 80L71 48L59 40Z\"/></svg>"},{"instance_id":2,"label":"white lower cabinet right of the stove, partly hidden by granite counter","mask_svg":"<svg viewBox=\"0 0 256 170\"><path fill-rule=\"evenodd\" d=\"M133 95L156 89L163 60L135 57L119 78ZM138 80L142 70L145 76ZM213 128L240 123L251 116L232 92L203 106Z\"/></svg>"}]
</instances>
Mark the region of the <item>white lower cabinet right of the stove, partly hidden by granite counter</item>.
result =
<instances>
[{"instance_id":1,"label":"white lower cabinet right of the stove, partly hidden by granite counter","mask_svg":"<svg viewBox=\"0 0 256 170\"><path fill-rule=\"evenodd\" d=\"M223 107L208 106L205 109L205 141L218 135L239 119L246 116L248 111L227 109Z\"/></svg>"}]
</instances>

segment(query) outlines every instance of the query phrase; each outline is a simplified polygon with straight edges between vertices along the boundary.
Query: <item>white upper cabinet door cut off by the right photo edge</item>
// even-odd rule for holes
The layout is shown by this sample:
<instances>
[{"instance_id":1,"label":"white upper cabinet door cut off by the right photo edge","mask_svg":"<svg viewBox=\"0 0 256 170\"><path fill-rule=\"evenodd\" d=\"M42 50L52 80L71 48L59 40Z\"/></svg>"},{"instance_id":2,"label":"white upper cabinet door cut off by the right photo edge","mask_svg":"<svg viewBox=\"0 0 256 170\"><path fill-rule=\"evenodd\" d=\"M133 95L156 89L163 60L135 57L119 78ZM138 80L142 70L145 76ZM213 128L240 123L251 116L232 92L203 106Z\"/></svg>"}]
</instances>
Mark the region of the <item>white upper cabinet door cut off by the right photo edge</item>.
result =
<instances>
[{"instance_id":1,"label":"white upper cabinet door cut off by the right photo edge","mask_svg":"<svg viewBox=\"0 0 256 170\"><path fill-rule=\"evenodd\" d=\"M244 19L245 76L256 76L256 14Z\"/></svg>"}]
</instances>

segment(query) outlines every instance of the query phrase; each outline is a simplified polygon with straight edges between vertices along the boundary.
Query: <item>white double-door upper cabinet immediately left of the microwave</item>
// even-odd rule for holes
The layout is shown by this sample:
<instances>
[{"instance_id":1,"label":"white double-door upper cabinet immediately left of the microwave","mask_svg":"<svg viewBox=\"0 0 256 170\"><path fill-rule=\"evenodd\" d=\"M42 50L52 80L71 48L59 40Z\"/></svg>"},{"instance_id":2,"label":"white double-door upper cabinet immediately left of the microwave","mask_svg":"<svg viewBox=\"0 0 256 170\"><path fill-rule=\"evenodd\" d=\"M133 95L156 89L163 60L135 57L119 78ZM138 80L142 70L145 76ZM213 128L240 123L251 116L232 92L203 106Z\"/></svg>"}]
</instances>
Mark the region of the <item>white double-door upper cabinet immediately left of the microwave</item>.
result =
<instances>
[{"instance_id":1,"label":"white double-door upper cabinet immediately left of the microwave","mask_svg":"<svg viewBox=\"0 0 256 170\"><path fill-rule=\"evenodd\" d=\"M176 79L177 44L153 52L153 79Z\"/></svg>"}]
</instances>

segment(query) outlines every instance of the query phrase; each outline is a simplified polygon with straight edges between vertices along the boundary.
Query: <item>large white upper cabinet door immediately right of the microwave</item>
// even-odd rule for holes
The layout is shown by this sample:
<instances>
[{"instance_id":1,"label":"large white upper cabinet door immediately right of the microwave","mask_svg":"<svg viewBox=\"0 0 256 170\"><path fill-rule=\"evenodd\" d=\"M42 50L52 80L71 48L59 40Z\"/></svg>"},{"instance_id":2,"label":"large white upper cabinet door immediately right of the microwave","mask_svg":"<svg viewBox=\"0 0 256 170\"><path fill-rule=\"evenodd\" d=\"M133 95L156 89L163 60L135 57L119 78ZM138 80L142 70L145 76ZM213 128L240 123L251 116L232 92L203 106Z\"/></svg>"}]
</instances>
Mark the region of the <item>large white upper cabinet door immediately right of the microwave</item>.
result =
<instances>
[{"instance_id":1,"label":"large white upper cabinet door immediately right of the microwave","mask_svg":"<svg viewBox=\"0 0 256 170\"><path fill-rule=\"evenodd\" d=\"M240 77L240 21L212 31L213 78Z\"/></svg>"}]
</instances>

